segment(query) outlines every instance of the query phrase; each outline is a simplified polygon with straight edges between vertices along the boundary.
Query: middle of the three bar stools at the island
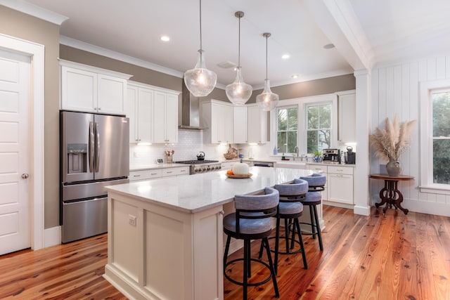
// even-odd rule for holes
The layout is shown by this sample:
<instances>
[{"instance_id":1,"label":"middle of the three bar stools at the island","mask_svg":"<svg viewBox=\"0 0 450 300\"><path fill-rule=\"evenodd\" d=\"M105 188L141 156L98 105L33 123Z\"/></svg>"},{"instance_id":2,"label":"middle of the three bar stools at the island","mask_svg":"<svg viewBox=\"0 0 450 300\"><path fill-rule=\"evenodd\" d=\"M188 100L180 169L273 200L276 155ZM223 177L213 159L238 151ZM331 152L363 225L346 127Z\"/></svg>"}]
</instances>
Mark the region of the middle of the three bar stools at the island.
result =
<instances>
[{"instance_id":1,"label":"middle of the three bar stools at the island","mask_svg":"<svg viewBox=\"0 0 450 300\"><path fill-rule=\"evenodd\" d=\"M278 254L297 254L302 252L303 266L305 269L308 268L306 253L304 252L304 245L302 239L302 232L300 230L300 223L298 218L302 216L303 204L305 195L308 192L308 183L304 180L297 180L295 183L290 184L277 184L275 189L280 193L280 204L278 207L278 217L279 219L284 219L284 236L280 236L280 224L276 225L276 237L269 237L270 239L276 239L275 250L275 273L278 271ZM292 226L292 235L290 236L290 227ZM295 234L297 233L298 240L295 239ZM277 238L278 237L278 238ZM282 252L279 249L280 240L285 241L285 251ZM290 246L289 246L290 242ZM298 244L299 249L293 251L294 245ZM262 256L262 245L259 249L259 259Z\"/></svg>"}]
</instances>

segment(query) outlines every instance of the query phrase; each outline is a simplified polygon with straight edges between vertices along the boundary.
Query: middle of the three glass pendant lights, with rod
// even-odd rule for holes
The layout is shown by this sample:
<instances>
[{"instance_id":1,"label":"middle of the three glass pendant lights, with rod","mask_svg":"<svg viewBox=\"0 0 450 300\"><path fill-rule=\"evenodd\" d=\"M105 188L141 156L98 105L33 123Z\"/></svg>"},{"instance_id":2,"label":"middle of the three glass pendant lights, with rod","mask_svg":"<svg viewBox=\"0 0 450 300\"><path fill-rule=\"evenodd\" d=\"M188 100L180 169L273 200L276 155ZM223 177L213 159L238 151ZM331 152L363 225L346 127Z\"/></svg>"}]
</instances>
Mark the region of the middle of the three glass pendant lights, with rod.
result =
<instances>
[{"instance_id":1,"label":"middle of the three glass pendant lights, with rod","mask_svg":"<svg viewBox=\"0 0 450 300\"><path fill-rule=\"evenodd\" d=\"M244 105L250 96L252 96L252 86L246 84L242 78L242 70L240 67L240 18L244 16L242 11L234 13L239 18L239 43L238 43L238 66L236 67L236 79L232 84L226 86L226 96L234 105Z\"/></svg>"}]
</instances>

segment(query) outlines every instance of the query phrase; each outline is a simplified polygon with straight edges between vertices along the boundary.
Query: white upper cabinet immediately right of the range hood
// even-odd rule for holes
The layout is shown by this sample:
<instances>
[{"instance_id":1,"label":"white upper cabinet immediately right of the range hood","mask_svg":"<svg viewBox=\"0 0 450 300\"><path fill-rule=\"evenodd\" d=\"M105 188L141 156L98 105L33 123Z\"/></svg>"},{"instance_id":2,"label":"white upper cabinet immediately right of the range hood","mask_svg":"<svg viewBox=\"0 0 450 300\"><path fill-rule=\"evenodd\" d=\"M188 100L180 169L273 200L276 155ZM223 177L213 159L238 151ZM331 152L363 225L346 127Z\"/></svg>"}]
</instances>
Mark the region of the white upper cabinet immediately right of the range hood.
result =
<instances>
[{"instance_id":1,"label":"white upper cabinet immediately right of the range hood","mask_svg":"<svg viewBox=\"0 0 450 300\"><path fill-rule=\"evenodd\" d=\"M200 105L200 125L203 143L233 143L233 105L218 100L206 100Z\"/></svg>"}]
</instances>

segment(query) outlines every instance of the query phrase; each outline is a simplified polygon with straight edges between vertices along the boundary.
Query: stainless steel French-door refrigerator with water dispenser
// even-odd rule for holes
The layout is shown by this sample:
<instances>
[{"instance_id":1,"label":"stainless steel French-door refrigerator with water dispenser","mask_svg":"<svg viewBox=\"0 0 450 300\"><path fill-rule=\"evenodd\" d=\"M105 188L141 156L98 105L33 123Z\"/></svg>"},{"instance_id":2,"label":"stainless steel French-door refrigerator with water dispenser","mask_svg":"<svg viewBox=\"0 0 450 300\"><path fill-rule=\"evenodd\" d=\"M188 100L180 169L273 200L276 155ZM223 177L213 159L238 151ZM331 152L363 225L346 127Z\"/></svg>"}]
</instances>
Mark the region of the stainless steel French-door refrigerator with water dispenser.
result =
<instances>
[{"instance_id":1,"label":"stainless steel French-door refrigerator with water dispenser","mask_svg":"<svg viewBox=\"0 0 450 300\"><path fill-rule=\"evenodd\" d=\"M128 183L129 119L60 112L63 243L108 231L108 185Z\"/></svg>"}]
</instances>

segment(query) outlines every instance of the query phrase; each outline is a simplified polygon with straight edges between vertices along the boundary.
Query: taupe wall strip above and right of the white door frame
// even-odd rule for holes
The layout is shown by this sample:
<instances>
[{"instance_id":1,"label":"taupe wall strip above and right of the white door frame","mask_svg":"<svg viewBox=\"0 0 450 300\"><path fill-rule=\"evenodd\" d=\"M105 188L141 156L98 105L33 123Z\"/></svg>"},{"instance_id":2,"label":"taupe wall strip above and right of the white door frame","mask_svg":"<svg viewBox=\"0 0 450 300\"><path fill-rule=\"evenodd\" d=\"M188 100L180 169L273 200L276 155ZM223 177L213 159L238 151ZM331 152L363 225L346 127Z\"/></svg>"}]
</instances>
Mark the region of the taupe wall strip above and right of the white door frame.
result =
<instances>
[{"instance_id":1,"label":"taupe wall strip above and right of the white door frame","mask_svg":"<svg viewBox=\"0 0 450 300\"><path fill-rule=\"evenodd\" d=\"M59 225L59 26L0 6L0 32L45 46L44 226Z\"/></svg>"}]
</instances>

